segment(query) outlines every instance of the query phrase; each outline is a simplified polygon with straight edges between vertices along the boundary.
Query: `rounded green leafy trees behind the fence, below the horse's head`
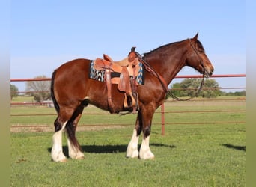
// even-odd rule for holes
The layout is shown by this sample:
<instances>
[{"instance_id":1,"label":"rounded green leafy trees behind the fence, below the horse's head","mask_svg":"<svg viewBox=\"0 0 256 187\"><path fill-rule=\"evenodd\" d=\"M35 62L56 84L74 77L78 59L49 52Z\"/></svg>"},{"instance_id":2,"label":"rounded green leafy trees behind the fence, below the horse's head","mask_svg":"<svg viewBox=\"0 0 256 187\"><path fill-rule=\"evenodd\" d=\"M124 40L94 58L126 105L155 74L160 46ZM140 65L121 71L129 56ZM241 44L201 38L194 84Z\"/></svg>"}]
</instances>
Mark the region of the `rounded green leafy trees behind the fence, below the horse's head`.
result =
<instances>
[{"instance_id":1,"label":"rounded green leafy trees behind the fence, below the horse's head","mask_svg":"<svg viewBox=\"0 0 256 187\"><path fill-rule=\"evenodd\" d=\"M196 96L200 84L201 79L184 79L182 82L172 85L171 91L175 96ZM210 98L221 94L221 91L219 90L219 83L216 82L215 79L206 79L204 81L204 88L198 93L198 96Z\"/></svg>"}]
</instances>

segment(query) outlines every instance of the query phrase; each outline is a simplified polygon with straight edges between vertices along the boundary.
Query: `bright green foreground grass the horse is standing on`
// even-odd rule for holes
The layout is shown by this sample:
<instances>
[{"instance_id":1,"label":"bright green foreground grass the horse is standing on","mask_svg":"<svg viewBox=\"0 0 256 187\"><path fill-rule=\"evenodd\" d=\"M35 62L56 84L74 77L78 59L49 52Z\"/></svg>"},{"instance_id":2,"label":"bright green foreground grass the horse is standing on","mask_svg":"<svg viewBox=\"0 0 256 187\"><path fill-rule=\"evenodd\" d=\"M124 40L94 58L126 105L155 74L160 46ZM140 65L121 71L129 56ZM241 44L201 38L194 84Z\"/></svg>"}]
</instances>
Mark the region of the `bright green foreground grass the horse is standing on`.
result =
<instances>
[{"instance_id":1,"label":"bright green foreground grass the horse is standing on","mask_svg":"<svg viewBox=\"0 0 256 187\"><path fill-rule=\"evenodd\" d=\"M166 131L153 126L151 161L125 158L132 128L77 132L85 159L66 163L50 160L52 133L12 133L11 186L245 186L244 124Z\"/></svg>"}]
</instances>

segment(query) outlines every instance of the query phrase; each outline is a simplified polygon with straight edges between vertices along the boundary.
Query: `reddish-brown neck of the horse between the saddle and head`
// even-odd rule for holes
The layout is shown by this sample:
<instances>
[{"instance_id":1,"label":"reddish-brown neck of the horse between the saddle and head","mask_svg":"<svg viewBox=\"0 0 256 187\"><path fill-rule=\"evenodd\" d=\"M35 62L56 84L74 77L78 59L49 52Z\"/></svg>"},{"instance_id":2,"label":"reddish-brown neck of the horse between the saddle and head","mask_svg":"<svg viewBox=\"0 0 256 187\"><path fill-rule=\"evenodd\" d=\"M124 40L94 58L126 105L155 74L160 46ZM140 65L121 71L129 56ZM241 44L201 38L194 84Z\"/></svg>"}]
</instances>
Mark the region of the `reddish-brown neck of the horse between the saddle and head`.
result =
<instances>
[{"instance_id":1,"label":"reddish-brown neck of the horse between the saddle and head","mask_svg":"<svg viewBox=\"0 0 256 187\"><path fill-rule=\"evenodd\" d=\"M171 80L185 66L186 52L185 48L178 48L171 55L155 55L153 58L148 58L148 61L169 85ZM147 58L145 60L147 61Z\"/></svg>"}]
</instances>

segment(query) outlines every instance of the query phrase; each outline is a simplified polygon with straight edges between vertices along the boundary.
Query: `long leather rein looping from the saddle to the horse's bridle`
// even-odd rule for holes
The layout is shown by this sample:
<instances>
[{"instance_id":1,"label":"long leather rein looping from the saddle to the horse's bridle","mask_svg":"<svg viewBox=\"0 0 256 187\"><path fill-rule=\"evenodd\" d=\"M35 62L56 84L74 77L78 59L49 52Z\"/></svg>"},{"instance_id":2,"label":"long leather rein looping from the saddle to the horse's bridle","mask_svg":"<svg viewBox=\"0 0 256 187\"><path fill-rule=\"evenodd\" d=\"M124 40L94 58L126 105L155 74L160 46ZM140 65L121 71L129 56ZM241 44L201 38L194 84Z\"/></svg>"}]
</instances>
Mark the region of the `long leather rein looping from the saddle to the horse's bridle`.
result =
<instances>
[{"instance_id":1,"label":"long leather rein looping from the saddle to the horse's bridle","mask_svg":"<svg viewBox=\"0 0 256 187\"><path fill-rule=\"evenodd\" d=\"M200 60L200 63L201 63L201 65L202 65L202 67L203 67L203 70L204 70L204 71L203 71L203 79L202 79L202 81L201 81L200 87L198 88L198 91L195 93L195 96L198 96L198 93L201 91L201 89L202 89L203 86L204 86L204 76L205 76L205 73L207 73L207 72L206 72L206 70L205 70L205 68L204 68L204 64L203 64L203 62L202 62L202 59L201 59L200 56L198 55L198 52L197 52L197 50L195 49L195 47L192 45L190 39L189 39L189 42L190 42L190 44L191 44L191 46L192 46L192 49L194 49L195 54L198 56L198 58L199 58L199 60ZM145 69L146 69L148 72L152 73L153 76L156 76L157 79L159 79L159 82L161 83L162 88L164 88L164 90L167 92L167 94L168 94L169 96L171 96L173 99L175 99L175 100L177 100L177 101L189 101L189 100L195 98L195 96L192 96L192 97L189 97L188 99L180 99L179 97L175 96L174 93L172 93L172 92L168 89L168 85L166 84L165 79L163 79L163 77L162 77L161 75L159 75L159 73L157 73L156 70L154 70L153 67L151 67L150 64L148 64L147 61L145 61L145 60L142 58L141 54L139 54L138 52L135 52L135 53L136 53L136 55L138 56L139 61L141 61L141 63L144 65Z\"/></svg>"}]
</instances>

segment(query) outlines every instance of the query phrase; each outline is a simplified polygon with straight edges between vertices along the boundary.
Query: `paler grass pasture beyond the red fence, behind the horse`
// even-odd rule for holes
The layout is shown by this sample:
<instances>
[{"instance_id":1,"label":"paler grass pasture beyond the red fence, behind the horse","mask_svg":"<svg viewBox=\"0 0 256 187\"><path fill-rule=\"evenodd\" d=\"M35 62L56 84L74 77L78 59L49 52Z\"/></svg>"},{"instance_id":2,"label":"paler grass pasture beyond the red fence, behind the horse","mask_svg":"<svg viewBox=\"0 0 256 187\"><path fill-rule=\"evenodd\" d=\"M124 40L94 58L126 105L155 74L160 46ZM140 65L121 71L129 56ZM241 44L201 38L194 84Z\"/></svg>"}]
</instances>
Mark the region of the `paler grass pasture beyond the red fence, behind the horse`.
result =
<instances>
[{"instance_id":1,"label":"paler grass pasture beyond the red fence, behind the horse","mask_svg":"<svg viewBox=\"0 0 256 187\"><path fill-rule=\"evenodd\" d=\"M223 99L232 99L223 100ZM178 112L165 114L166 123L191 123L191 122L228 122L228 121L245 121L246 102L245 97L225 97L213 100L201 100L190 102L165 102L165 111ZM20 98L18 99L20 100ZM237 112L227 112L227 111ZM179 113L179 111L188 111L185 113ZM191 111L202 111L192 113ZM204 112L205 111L205 112ZM207 112L216 111L216 112ZM224 111L224 112L222 112ZM44 106L18 106L10 108L10 124L12 126L22 125L48 125L53 126L53 122L57 117L54 108L47 108ZM31 114L28 116L27 114ZM36 115L36 114L39 114ZM44 116L43 114L49 114ZM18 115L18 116L15 116ZM21 116L19 116L21 115ZM34 116L35 115L35 116ZM100 116L100 117L99 117ZM217 118L216 118L217 116ZM161 123L160 108L156 110L156 114L153 117L153 123ZM192 118L194 118L192 120ZM196 120L198 119L198 120ZM135 123L135 115L109 115L108 111L102 111L99 108L89 105L84 110L84 115L79 121L80 125L106 125L106 124L124 124L132 125Z\"/></svg>"}]
</instances>

